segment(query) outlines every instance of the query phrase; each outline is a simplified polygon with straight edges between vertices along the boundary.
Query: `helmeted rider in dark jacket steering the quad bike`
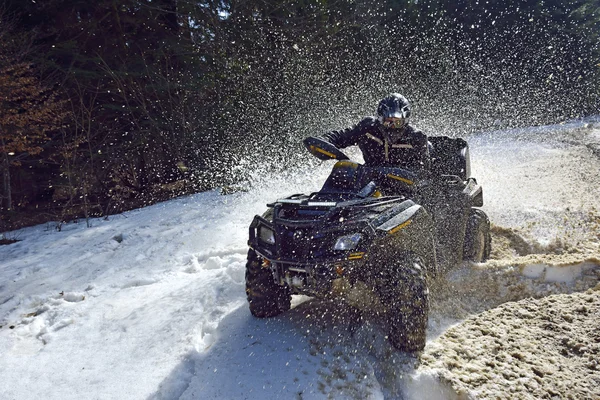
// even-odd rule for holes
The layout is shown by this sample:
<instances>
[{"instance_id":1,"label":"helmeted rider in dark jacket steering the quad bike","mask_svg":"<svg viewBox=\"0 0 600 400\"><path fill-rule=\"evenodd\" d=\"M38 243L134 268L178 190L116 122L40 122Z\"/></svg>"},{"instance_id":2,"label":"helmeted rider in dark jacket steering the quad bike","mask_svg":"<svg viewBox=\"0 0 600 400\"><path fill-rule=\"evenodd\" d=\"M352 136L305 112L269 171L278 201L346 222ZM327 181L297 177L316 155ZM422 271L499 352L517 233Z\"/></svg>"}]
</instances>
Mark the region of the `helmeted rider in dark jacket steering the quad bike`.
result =
<instances>
[{"instance_id":1,"label":"helmeted rider in dark jacket steering the quad bike","mask_svg":"<svg viewBox=\"0 0 600 400\"><path fill-rule=\"evenodd\" d=\"M358 146L365 165L401 167L412 171L428 170L430 166L427 136L408 124L410 103L398 93L392 93L379 102L377 117L367 117L353 128L326 133L318 139L334 148ZM315 154L311 138L304 141Z\"/></svg>"}]
</instances>

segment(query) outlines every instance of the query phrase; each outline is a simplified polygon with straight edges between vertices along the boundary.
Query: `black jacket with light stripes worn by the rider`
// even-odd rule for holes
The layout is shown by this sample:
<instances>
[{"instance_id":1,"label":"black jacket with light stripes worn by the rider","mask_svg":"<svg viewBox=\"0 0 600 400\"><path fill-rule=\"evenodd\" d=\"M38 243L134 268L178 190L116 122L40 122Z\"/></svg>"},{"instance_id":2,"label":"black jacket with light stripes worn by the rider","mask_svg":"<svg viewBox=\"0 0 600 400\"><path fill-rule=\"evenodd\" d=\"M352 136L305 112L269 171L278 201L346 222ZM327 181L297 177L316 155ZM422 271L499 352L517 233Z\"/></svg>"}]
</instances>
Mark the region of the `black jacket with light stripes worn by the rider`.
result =
<instances>
[{"instance_id":1,"label":"black jacket with light stripes worn by the rider","mask_svg":"<svg viewBox=\"0 0 600 400\"><path fill-rule=\"evenodd\" d=\"M321 138L337 148L358 146L367 166L401 167L412 171L429 169L428 141L423 132L408 125L402 135L390 143L384 130L377 119L368 117L354 128L332 131Z\"/></svg>"}]
</instances>

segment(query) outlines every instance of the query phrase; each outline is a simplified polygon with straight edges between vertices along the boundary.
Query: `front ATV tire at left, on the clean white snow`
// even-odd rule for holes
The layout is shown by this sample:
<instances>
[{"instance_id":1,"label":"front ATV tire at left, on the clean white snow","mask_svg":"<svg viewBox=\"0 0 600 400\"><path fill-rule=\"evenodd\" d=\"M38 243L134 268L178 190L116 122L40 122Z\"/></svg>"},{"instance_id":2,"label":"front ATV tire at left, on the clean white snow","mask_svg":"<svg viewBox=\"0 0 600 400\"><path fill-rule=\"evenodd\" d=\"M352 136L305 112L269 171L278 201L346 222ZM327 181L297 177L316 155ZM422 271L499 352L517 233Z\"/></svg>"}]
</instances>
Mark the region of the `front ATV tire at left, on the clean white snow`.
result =
<instances>
[{"instance_id":1,"label":"front ATV tire at left, on the clean white snow","mask_svg":"<svg viewBox=\"0 0 600 400\"><path fill-rule=\"evenodd\" d=\"M246 297L250 313L258 318L274 317L291 308L289 288L275 283L271 270L263 267L262 257L252 249L246 263Z\"/></svg>"}]
</instances>

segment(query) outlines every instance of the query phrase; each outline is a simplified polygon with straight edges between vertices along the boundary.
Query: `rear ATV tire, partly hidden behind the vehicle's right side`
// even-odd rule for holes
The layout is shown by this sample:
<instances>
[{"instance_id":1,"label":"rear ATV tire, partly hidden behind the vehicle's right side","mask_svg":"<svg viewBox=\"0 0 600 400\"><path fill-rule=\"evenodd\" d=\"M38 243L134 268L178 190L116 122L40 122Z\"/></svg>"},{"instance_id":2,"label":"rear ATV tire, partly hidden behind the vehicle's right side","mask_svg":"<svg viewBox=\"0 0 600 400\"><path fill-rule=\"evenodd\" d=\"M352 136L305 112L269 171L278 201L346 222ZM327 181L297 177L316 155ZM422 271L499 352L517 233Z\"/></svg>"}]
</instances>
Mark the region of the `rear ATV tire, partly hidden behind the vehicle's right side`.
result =
<instances>
[{"instance_id":1,"label":"rear ATV tire, partly hidden behind the vehicle's right side","mask_svg":"<svg viewBox=\"0 0 600 400\"><path fill-rule=\"evenodd\" d=\"M491 247L490 220L483 211L473 208L465 231L463 259L477 263L485 262L490 258Z\"/></svg>"}]
</instances>

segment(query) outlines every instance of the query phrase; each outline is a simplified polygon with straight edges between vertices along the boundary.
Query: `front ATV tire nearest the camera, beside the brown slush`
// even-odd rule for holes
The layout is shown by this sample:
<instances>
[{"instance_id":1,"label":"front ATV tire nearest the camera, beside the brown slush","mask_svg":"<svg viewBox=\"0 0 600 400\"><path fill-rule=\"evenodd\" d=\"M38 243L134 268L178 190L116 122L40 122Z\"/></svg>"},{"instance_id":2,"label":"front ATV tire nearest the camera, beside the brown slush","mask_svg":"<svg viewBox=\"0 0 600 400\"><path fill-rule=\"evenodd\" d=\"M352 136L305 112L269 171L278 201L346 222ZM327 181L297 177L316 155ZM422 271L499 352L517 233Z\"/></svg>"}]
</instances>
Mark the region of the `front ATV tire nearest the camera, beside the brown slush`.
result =
<instances>
[{"instance_id":1,"label":"front ATV tire nearest the camera, beside the brown slush","mask_svg":"<svg viewBox=\"0 0 600 400\"><path fill-rule=\"evenodd\" d=\"M409 254L396 268L381 271L376 291L384 306L385 325L391 344L401 351L425 347L429 290L426 268L421 259Z\"/></svg>"}]
</instances>

